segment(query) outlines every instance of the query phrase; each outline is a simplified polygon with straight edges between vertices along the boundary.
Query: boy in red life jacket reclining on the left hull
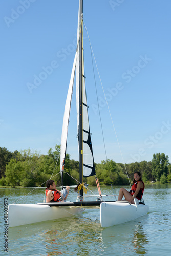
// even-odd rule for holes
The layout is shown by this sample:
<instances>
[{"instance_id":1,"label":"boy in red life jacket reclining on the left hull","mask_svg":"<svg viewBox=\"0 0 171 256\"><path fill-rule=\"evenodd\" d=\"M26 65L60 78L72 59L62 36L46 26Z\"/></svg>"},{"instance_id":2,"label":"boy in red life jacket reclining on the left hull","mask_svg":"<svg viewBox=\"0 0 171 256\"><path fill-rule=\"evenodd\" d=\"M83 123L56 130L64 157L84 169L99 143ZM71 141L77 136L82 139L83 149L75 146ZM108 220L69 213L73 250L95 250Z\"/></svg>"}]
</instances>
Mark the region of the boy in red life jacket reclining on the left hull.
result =
<instances>
[{"instance_id":1,"label":"boy in red life jacket reclining on the left hull","mask_svg":"<svg viewBox=\"0 0 171 256\"><path fill-rule=\"evenodd\" d=\"M61 191L56 189L56 185L54 180L48 180L46 188L46 202L47 203L57 203L57 202L64 202L67 199L70 187L66 186Z\"/></svg>"}]
</instances>

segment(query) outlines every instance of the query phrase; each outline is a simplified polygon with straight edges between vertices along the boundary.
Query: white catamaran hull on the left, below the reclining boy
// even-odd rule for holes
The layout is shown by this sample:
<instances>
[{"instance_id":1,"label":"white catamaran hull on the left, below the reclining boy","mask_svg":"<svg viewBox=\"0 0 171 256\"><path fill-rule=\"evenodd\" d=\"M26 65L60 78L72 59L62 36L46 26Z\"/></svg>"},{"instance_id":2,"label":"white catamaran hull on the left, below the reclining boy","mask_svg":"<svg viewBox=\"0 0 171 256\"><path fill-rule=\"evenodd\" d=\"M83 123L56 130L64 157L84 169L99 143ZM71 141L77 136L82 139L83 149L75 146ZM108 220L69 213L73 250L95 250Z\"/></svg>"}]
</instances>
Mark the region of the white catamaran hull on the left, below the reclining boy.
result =
<instances>
[{"instance_id":1,"label":"white catamaran hull on the left, below the reclining boy","mask_svg":"<svg viewBox=\"0 0 171 256\"><path fill-rule=\"evenodd\" d=\"M9 204L8 224L16 227L41 221L56 220L79 214L77 207L50 207L38 204Z\"/></svg>"}]
</instances>

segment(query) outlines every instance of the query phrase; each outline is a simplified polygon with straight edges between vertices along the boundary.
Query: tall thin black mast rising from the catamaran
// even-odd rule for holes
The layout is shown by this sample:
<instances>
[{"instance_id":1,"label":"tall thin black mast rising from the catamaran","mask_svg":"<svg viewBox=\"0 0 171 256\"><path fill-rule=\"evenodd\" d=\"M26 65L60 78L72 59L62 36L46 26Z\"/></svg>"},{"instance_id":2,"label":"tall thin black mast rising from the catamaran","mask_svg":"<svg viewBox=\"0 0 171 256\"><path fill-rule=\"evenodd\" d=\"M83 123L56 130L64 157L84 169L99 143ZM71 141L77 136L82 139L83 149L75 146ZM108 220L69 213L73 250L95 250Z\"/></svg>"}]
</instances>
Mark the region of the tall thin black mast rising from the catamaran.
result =
<instances>
[{"instance_id":1,"label":"tall thin black mast rising from the catamaran","mask_svg":"<svg viewBox=\"0 0 171 256\"><path fill-rule=\"evenodd\" d=\"M79 181L83 182L83 125L82 125L82 49L83 49L83 31L82 31L82 15L83 0L80 0L80 44L79 44ZM83 196L83 189L80 190L80 196Z\"/></svg>"}]
</instances>

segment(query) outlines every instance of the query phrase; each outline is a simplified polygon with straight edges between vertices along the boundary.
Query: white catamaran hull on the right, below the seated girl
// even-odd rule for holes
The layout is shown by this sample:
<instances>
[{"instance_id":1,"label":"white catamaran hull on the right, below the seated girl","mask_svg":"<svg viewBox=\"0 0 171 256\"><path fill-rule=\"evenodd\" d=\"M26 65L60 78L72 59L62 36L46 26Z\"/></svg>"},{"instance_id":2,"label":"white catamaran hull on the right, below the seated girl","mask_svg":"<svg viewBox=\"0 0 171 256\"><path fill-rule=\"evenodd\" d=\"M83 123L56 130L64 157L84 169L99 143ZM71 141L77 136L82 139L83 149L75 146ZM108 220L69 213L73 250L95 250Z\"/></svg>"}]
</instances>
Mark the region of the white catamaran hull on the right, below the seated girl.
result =
<instances>
[{"instance_id":1,"label":"white catamaran hull on the right, below the seated girl","mask_svg":"<svg viewBox=\"0 0 171 256\"><path fill-rule=\"evenodd\" d=\"M137 219L148 213L148 205L129 204L127 202L103 202L100 204L100 224L111 227Z\"/></svg>"}]
</instances>

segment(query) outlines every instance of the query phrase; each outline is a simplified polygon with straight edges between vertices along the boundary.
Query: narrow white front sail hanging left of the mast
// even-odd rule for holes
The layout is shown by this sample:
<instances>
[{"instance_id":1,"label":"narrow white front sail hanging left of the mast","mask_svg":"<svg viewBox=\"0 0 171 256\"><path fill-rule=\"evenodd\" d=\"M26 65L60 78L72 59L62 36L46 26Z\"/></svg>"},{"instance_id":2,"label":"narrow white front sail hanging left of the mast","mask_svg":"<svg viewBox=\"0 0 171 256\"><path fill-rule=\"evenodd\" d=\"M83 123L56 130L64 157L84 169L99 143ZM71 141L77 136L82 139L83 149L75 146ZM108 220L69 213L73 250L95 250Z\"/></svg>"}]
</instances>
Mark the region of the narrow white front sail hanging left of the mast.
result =
<instances>
[{"instance_id":1,"label":"narrow white front sail hanging left of the mast","mask_svg":"<svg viewBox=\"0 0 171 256\"><path fill-rule=\"evenodd\" d=\"M66 148L67 148L67 136L68 136L68 124L70 118L70 109L71 109L71 100L72 100L72 93L73 93L73 84L74 84L74 76L75 76L75 66L76 66L76 59L77 59L77 51L74 58L70 84L67 94L67 100L65 105L65 111L63 116L63 126L62 126L62 135L61 135L61 145L60 145L60 172L62 175L63 165L65 163L66 157Z\"/></svg>"}]
</instances>

